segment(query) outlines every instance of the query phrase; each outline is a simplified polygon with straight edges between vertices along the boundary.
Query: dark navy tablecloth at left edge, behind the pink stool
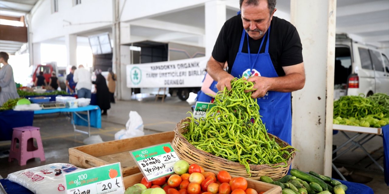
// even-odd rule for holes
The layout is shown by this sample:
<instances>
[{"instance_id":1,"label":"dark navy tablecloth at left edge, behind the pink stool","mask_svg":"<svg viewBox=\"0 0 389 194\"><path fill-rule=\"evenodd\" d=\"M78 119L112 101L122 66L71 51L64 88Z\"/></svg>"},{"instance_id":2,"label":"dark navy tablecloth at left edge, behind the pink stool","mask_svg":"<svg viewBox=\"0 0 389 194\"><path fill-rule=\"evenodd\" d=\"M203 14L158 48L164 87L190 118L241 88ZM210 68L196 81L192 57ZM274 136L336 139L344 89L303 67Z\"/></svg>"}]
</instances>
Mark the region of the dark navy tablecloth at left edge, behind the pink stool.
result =
<instances>
[{"instance_id":1,"label":"dark navy tablecloth at left edge, behind the pink stool","mask_svg":"<svg viewBox=\"0 0 389 194\"><path fill-rule=\"evenodd\" d=\"M0 141L12 139L12 128L32 126L33 111L2 111L0 112Z\"/></svg>"}]
</instances>

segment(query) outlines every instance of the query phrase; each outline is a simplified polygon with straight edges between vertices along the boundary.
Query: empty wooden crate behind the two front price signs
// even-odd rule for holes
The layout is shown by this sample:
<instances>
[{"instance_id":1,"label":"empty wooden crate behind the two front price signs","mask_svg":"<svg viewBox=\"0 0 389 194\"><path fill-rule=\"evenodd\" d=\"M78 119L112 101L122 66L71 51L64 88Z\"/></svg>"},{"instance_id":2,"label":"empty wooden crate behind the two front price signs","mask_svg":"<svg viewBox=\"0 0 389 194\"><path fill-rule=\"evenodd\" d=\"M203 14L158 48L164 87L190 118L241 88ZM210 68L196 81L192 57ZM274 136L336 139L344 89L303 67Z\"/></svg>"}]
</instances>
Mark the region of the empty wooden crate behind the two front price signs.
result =
<instances>
[{"instance_id":1,"label":"empty wooden crate behind the two front price signs","mask_svg":"<svg viewBox=\"0 0 389 194\"><path fill-rule=\"evenodd\" d=\"M120 162L123 177L140 172L129 151L172 142L174 132L163 132L100 144L69 148L69 163L80 168L93 168Z\"/></svg>"}]
</instances>

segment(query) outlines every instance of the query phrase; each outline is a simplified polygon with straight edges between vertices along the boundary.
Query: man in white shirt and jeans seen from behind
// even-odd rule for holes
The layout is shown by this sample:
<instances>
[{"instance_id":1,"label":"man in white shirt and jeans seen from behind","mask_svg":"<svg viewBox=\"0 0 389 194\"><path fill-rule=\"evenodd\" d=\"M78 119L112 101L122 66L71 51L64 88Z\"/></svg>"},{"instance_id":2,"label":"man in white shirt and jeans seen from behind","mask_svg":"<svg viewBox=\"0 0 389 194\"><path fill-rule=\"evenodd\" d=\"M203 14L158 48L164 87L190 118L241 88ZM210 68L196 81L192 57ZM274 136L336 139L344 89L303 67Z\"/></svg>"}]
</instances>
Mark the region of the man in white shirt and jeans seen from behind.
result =
<instances>
[{"instance_id":1,"label":"man in white shirt and jeans seen from behind","mask_svg":"<svg viewBox=\"0 0 389 194\"><path fill-rule=\"evenodd\" d=\"M77 96L79 98L91 98L91 73L84 68L83 65L79 65L78 69L74 71L73 81L77 83L75 88L77 89Z\"/></svg>"}]
</instances>

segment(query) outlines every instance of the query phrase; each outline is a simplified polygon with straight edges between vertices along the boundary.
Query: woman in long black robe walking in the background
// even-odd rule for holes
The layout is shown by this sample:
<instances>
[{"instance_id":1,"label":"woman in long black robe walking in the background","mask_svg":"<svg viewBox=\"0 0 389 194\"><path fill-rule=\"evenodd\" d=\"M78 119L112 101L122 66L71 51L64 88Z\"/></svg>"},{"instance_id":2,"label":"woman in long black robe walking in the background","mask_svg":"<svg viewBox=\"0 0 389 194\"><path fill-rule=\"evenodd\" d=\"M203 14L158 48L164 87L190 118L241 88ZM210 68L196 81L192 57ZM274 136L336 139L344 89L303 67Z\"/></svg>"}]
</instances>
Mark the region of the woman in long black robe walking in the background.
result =
<instances>
[{"instance_id":1,"label":"woman in long black robe walking in the background","mask_svg":"<svg viewBox=\"0 0 389 194\"><path fill-rule=\"evenodd\" d=\"M107 115L107 110L110 109L111 105L109 103L109 90L107 87L107 81L104 76L101 74L100 69L95 70L96 81L92 83L96 85L96 101L97 105L102 110L101 115Z\"/></svg>"}]
</instances>

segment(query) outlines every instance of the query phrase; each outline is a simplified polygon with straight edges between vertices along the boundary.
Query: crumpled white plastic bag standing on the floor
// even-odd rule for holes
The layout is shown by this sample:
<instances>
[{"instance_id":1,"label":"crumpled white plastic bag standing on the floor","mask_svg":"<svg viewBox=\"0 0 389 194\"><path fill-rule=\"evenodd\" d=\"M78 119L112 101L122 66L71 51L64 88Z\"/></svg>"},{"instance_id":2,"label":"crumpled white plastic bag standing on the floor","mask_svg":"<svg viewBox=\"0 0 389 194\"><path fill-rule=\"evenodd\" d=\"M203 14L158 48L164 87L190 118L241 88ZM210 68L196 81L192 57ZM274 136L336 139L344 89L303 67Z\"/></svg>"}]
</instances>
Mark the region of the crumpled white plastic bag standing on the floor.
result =
<instances>
[{"instance_id":1,"label":"crumpled white plastic bag standing on the floor","mask_svg":"<svg viewBox=\"0 0 389 194\"><path fill-rule=\"evenodd\" d=\"M122 129L115 133L115 140L142 136L143 120L137 111L130 111L130 119L126 123L126 130Z\"/></svg>"}]
</instances>

